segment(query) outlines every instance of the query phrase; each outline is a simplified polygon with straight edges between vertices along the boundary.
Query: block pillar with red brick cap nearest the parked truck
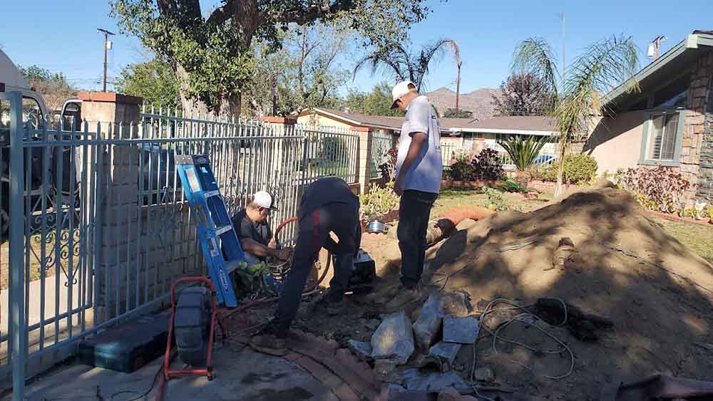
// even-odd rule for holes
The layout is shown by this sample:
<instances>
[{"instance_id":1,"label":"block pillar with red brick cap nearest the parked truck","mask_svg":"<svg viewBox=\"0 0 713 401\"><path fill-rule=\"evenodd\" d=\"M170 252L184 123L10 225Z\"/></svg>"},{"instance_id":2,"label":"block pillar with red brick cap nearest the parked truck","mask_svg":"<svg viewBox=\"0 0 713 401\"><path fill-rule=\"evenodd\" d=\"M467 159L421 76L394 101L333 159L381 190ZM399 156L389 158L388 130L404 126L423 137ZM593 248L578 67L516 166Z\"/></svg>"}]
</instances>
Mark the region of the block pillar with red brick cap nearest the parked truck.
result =
<instances>
[{"instance_id":1,"label":"block pillar with red brick cap nearest the parked truck","mask_svg":"<svg viewBox=\"0 0 713 401\"><path fill-rule=\"evenodd\" d=\"M138 137L141 98L102 92L81 92L79 98L82 100L82 118L88 123L89 132L98 132L104 139ZM143 254L139 251L140 233L137 231L140 221L139 150L136 145L103 146L95 150L96 163L88 166L91 169L88 189L93 191L97 205L92 217L94 237L91 244L96 288L95 323L113 318L117 310L118 313L125 312L127 297L130 307L135 305L135 268ZM139 290L143 294L143 286L149 283L145 280L140 283Z\"/></svg>"}]
</instances>

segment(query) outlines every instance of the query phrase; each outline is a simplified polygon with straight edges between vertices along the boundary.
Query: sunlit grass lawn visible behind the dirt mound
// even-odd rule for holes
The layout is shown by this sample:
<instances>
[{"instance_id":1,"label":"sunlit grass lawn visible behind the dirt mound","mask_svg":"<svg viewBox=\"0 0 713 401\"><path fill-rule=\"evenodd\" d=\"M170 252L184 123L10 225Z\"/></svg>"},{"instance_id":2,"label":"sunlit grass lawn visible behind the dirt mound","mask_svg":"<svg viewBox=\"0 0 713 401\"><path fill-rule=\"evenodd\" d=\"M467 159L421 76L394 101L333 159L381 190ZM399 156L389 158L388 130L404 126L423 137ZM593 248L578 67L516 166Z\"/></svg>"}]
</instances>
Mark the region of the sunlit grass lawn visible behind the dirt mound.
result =
<instances>
[{"instance_id":1,"label":"sunlit grass lawn visible behind the dirt mound","mask_svg":"<svg viewBox=\"0 0 713 401\"><path fill-rule=\"evenodd\" d=\"M530 212L541 207L545 201L552 199L552 194L542 193L538 200L519 199L514 194L503 194L503 197L505 197L509 209ZM431 211L431 218L457 207L468 205L485 207L487 204L488 197L478 189L446 189L438 197L436 205ZM671 222L660 217L654 217L653 219L664 226L664 229L681 241L682 244L713 264L713 224L702 226L699 224Z\"/></svg>"}]
</instances>

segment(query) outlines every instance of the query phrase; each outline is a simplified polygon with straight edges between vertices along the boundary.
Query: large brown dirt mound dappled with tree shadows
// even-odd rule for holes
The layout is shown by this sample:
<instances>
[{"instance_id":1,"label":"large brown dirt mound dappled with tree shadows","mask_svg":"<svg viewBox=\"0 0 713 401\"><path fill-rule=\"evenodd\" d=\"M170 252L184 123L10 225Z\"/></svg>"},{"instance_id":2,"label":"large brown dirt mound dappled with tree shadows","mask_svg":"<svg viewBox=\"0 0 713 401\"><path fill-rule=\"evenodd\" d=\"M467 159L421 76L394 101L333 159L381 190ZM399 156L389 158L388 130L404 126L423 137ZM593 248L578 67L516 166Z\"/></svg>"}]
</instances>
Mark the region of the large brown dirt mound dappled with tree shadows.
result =
<instances>
[{"instance_id":1,"label":"large brown dirt mound dappled with tree shadows","mask_svg":"<svg viewBox=\"0 0 713 401\"><path fill-rule=\"evenodd\" d=\"M553 265L563 238L577 257ZM586 343L565 328L547 328L575 355L573 372L560 380L544 376L568 372L566 353L531 353L502 342L495 353L493 338L481 338L478 367L490 366L503 385L598 400L602 386L657 372L712 378L713 351L697 344L713 343L713 266L648 219L625 192L602 185L527 214L500 212L458 231L429 256L432 281L468 292L474 303L502 297L529 305L554 297L614 323ZM558 348L526 325L508 326L501 335ZM469 370L471 358L461 351L461 368Z\"/></svg>"}]
</instances>

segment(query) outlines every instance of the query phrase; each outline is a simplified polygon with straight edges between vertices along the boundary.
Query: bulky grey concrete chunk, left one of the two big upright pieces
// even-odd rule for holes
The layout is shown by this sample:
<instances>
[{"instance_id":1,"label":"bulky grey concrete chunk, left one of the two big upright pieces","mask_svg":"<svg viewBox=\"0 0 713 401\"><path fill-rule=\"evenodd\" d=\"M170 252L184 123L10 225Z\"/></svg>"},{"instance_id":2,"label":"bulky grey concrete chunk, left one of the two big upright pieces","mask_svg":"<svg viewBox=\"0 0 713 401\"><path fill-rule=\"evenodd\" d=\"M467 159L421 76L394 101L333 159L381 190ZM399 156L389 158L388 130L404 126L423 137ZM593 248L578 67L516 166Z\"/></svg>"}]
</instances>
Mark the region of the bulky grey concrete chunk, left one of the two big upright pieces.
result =
<instances>
[{"instance_id":1,"label":"bulky grey concrete chunk, left one of the two big upright pieces","mask_svg":"<svg viewBox=\"0 0 713 401\"><path fill-rule=\"evenodd\" d=\"M379 328L371 335L371 355L374 359L392 359L404 365L414 353L414 333L411 320L404 311L384 316Z\"/></svg>"}]
</instances>

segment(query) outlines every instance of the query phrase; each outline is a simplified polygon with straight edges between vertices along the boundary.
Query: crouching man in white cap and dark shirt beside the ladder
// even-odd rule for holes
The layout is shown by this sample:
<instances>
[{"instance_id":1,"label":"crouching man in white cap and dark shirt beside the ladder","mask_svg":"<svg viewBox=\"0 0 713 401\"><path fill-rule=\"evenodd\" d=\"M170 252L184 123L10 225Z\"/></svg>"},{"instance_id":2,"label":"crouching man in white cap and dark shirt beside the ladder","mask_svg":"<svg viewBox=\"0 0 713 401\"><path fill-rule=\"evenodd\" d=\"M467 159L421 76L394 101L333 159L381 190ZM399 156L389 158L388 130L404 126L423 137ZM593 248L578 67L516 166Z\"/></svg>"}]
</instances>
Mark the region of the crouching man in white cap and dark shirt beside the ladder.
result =
<instances>
[{"instance_id":1,"label":"crouching man in white cap and dark shirt beside the ladder","mask_svg":"<svg viewBox=\"0 0 713 401\"><path fill-rule=\"evenodd\" d=\"M260 263L268 256L283 261L289 258L289 251L277 249L277 241L272 237L270 223L267 222L272 210L277 210L275 197L260 191L255 193L245 209L232 217L232 226L235 227L237 239L240 239L247 264Z\"/></svg>"}]
</instances>

